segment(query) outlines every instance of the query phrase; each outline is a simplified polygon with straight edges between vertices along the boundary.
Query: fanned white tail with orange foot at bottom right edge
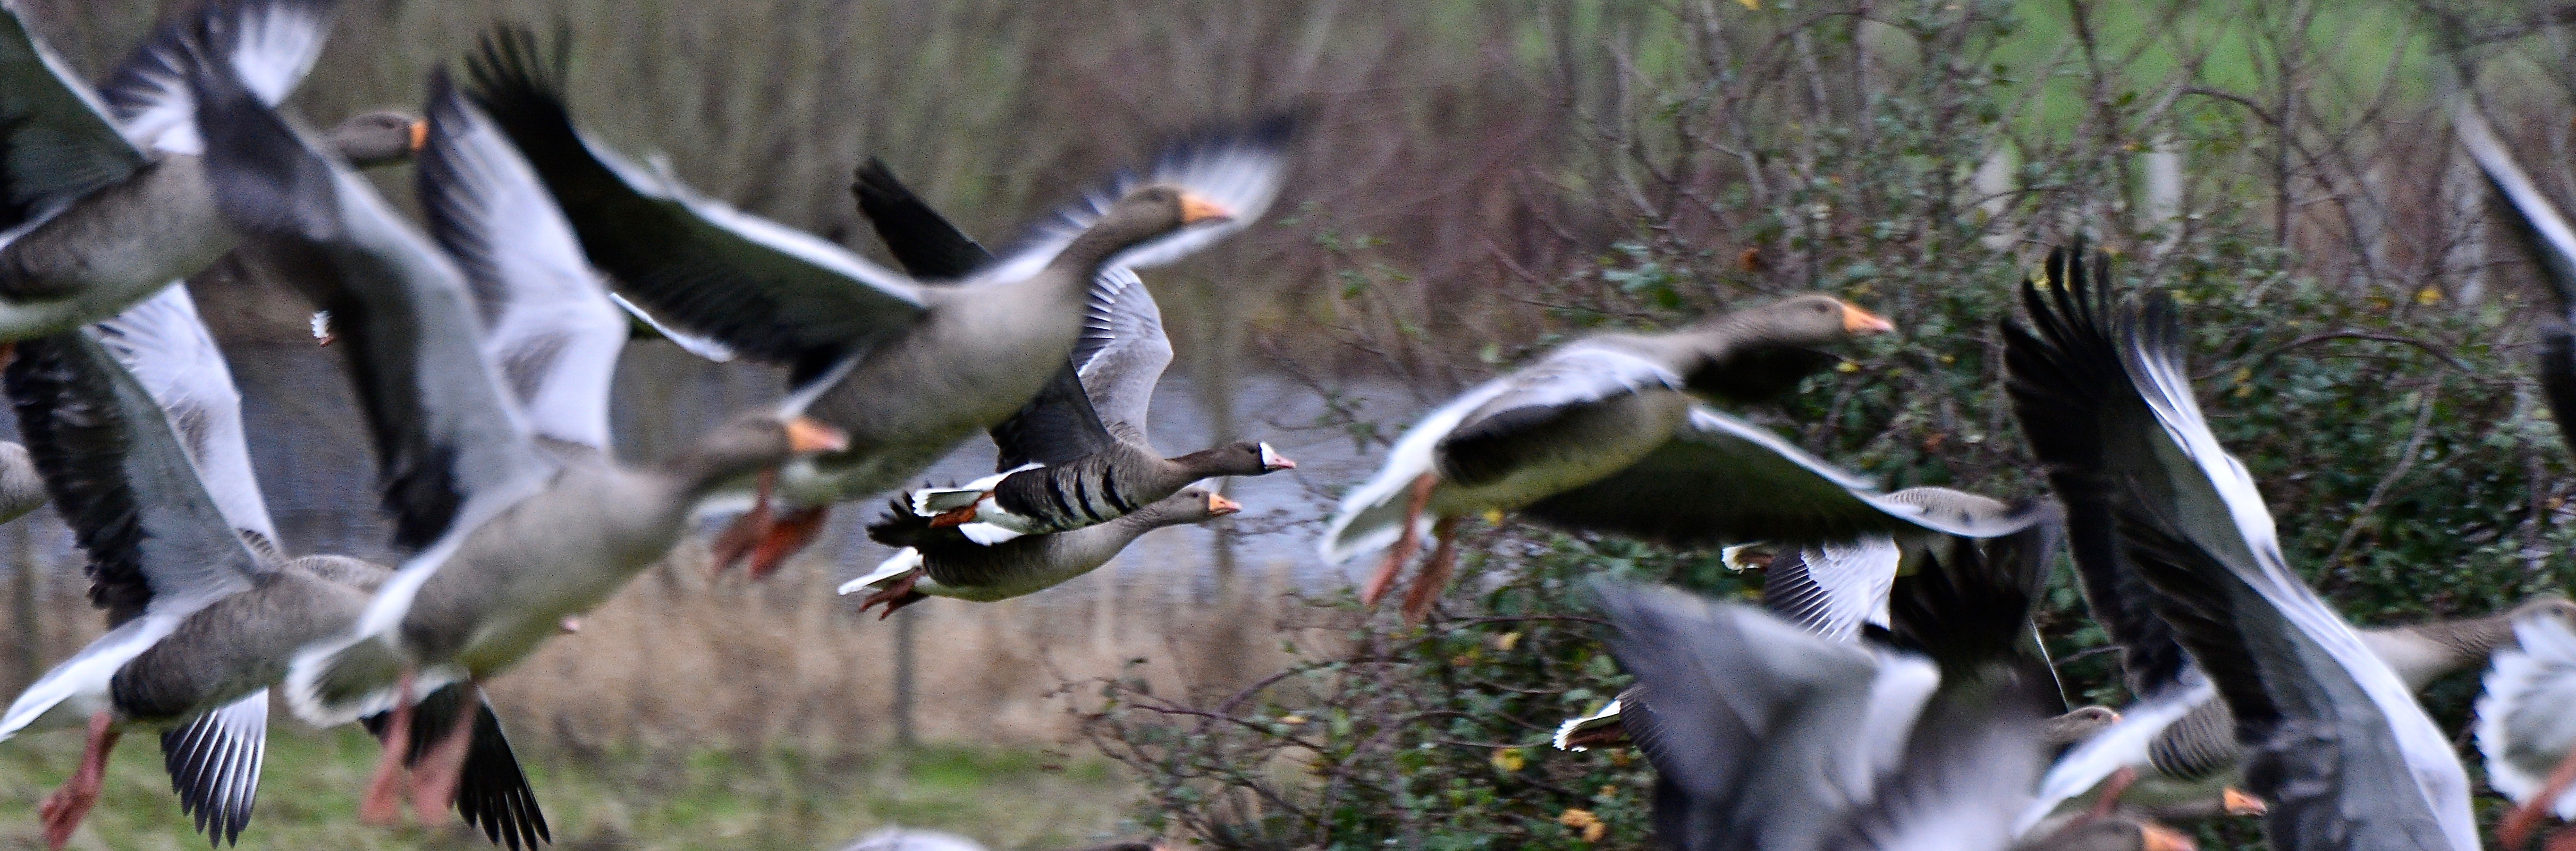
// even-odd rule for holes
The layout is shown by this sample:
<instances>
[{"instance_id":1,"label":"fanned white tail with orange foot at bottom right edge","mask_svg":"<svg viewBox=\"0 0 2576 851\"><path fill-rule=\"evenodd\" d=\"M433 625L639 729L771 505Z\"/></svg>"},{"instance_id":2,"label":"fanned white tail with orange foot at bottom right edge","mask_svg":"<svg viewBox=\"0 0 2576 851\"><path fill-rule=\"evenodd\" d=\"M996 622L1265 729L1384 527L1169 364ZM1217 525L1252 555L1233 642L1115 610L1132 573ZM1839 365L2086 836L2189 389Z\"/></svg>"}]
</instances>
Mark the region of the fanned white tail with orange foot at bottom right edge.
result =
<instances>
[{"instance_id":1,"label":"fanned white tail with orange foot at bottom right edge","mask_svg":"<svg viewBox=\"0 0 2576 851\"><path fill-rule=\"evenodd\" d=\"M2543 815L2576 820L2576 630L2566 612L2514 622L2514 645L2496 653L2478 694L2478 753L2486 784L2514 800L2496 825L2506 848L2522 848ZM2555 841L2550 843L2558 846Z\"/></svg>"}]
</instances>

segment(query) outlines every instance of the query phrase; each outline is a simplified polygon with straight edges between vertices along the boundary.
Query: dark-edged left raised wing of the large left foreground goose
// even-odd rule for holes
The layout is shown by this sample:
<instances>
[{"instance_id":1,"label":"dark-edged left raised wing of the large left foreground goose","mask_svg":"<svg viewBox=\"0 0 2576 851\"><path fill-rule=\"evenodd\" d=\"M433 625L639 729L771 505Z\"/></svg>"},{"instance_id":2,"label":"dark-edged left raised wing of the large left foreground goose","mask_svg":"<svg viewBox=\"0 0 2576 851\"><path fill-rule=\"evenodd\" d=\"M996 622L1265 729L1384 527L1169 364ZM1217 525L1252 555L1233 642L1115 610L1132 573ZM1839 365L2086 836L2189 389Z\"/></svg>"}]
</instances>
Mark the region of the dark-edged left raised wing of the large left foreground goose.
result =
<instances>
[{"instance_id":1,"label":"dark-edged left raised wing of the large left foreground goose","mask_svg":"<svg viewBox=\"0 0 2576 851\"><path fill-rule=\"evenodd\" d=\"M551 473L482 355L464 275L345 162L258 103L224 64L191 75L216 206L296 270L332 324L381 458L397 542L438 540L474 496Z\"/></svg>"}]
</instances>

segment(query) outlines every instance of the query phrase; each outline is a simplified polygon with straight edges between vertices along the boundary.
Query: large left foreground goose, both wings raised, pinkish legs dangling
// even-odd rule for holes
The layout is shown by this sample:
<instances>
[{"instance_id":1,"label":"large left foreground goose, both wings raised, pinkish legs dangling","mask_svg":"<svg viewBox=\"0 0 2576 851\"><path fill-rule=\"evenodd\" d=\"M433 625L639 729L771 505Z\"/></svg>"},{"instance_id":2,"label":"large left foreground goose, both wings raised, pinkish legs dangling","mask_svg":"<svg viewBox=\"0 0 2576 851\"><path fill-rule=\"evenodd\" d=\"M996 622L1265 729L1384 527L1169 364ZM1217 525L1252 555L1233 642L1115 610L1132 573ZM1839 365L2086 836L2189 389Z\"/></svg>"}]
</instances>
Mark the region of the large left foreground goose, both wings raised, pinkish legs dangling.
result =
<instances>
[{"instance_id":1,"label":"large left foreground goose, both wings raised, pinkish legs dangling","mask_svg":"<svg viewBox=\"0 0 2576 851\"><path fill-rule=\"evenodd\" d=\"M191 85L224 216L332 311L397 545L417 548L353 630L296 653L286 681L312 722L394 712L361 807L389 820L417 694L464 684L474 697L479 679L670 553L698 499L840 434L796 417L809 399L791 399L659 465L618 465L605 452L605 375L623 316L569 255L526 165L446 75L433 77L420 198L456 262L227 67L193 67ZM415 787L422 815L453 794L469 735L464 722L433 730Z\"/></svg>"}]
</instances>

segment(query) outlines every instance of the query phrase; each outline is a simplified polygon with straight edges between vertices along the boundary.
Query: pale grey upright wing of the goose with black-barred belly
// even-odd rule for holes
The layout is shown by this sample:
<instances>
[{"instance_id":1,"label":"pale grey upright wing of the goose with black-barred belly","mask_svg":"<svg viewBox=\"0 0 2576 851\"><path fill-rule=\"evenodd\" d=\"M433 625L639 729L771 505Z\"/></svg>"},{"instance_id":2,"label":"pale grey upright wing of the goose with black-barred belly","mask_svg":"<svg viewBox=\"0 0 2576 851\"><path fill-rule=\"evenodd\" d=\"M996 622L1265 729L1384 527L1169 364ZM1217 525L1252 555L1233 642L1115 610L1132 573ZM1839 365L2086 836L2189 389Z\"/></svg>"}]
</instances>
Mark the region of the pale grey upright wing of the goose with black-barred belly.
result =
<instances>
[{"instance_id":1,"label":"pale grey upright wing of the goose with black-barred belly","mask_svg":"<svg viewBox=\"0 0 2576 851\"><path fill-rule=\"evenodd\" d=\"M1100 424L1118 440L1151 447L1146 411L1154 383L1172 365L1172 339L1162 334L1162 309L1128 267L1103 270L1092 280L1082 339L1074 342L1074 368L1092 399Z\"/></svg>"}]
</instances>

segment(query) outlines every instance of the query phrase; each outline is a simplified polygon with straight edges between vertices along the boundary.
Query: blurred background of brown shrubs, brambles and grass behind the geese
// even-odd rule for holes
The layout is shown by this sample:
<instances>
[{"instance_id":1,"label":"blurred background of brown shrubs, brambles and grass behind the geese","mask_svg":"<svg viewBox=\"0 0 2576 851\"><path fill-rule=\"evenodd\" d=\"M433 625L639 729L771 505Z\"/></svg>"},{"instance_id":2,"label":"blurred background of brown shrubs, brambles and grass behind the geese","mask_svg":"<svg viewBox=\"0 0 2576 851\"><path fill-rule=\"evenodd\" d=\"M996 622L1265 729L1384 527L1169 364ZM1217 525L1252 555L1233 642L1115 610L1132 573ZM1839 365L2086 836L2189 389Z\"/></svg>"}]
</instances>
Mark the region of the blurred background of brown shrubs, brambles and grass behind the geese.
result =
<instances>
[{"instance_id":1,"label":"blurred background of brown shrubs, brambles and grass behind the geese","mask_svg":"<svg viewBox=\"0 0 2576 851\"><path fill-rule=\"evenodd\" d=\"M21 5L95 77L188 3ZM1157 550L1154 576L1182 591L1136 604L1059 589L1087 599L1074 614L925 607L920 630L976 630L922 692L925 738L984 753L979 782L1072 766L1087 792L1038 794L1090 815L984 818L1020 792L899 771L878 710L889 625L822 599L866 550L827 548L768 589L706 581L685 550L685 568L621 599L623 648L564 640L500 686L533 717L518 733L549 807L564 802L559 838L724 846L747 833L690 825L732 818L757 823L742 828L757 846L822 848L920 820L871 802L933 789L956 800L922 810L945 812L933 823L1005 846L1121 830L1257 848L1641 846L1643 764L1543 748L1620 684L1577 589L1613 573L1759 594L1757 576L1713 553L1502 524L1473 532L1471 578L1443 614L1404 630L1311 566L1303 519L1425 404L1538 350L1798 291L1852 298L1899 334L1752 417L1888 486L2035 496L1999 396L1996 319L2040 252L2076 234L2190 306L2221 440L2259 476L2293 560L2357 622L2476 614L2576 578L2576 478L2527 375L2532 270L2491 231L2442 118L2473 69L2524 162L2576 198L2576 13L2555 3L348 0L294 103L314 123L415 103L428 69L500 18L572 28L572 103L595 136L863 252L845 185L871 154L999 242L1164 139L1296 111L1298 165L1273 219L1149 280L1198 429L1347 455L1298 470L1306 504L1273 535ZM407 195L402 170L379 183ZM237 368L299 345L286 288L196 285ZM716 381L657 363L629 368L621 399ZM726 375L744 401L768 381ZM621 411L621 442L649 455L703 422ZM255 452L268 476L289 450ZM1236 576L1236 558L1296 576ZM95 627L36 563L21 560L13 617L21 658L52 661ZM1211 563L1213 589L1198 584ZM2087 653L2102 635L2071 584L2043 627L2071 699L2125 699L2110 656ZM629 656L647 661L600 663ZM654 663L667 658L690 663ZM2427 704L2458 730L2473 686L2458 676ZM353 771L330 769L350 758L335 748L350 746L281 751L273 789ZM0 776L33 800L64 753ZM768 769L703 789L654 769L665 782L644 784L621 753ZM142 789L111 805L175 823L134 776ZM726 807L747 815L672 815ZM263 807L245 843L304 836L289 833L296 812Z\"/></svg>"}]
</instances>

